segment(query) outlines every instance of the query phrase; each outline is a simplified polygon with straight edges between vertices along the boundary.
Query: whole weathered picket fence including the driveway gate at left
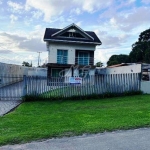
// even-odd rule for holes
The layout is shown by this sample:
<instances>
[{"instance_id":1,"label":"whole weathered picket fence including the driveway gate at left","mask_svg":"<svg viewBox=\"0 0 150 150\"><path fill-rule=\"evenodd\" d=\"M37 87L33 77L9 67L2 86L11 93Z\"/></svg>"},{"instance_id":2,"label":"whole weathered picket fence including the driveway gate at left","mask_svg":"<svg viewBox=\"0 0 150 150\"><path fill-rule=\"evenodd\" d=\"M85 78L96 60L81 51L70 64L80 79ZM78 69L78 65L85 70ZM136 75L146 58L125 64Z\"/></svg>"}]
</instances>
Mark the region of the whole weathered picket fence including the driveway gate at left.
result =
<instances>
[{"instance_id":1,"label":"whole weathered picket fence including the driveway gate at left","mask_svg":"<svg viewBox=\"0 0 150 150\"><path fill-rule=\"evenodd\" d=\"M138 73L94 75L82 78L82 84L71 84L69 77L1 76L0 100L20 100L25 95L52 97L88 96L140 90Z\"/></svg>"}]
</instances>

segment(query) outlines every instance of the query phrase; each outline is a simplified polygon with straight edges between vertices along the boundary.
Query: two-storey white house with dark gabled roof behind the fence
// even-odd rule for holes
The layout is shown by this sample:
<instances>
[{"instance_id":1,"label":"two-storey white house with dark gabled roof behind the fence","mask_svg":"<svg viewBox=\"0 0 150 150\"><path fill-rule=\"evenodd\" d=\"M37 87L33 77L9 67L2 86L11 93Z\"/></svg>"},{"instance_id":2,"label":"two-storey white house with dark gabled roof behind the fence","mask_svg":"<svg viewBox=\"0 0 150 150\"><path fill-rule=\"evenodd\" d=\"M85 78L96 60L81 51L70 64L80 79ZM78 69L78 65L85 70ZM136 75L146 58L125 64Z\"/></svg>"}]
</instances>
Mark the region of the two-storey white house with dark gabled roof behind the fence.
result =
<instances>
[{"instance_id":1,"label":"two-storey white house with dark gabled roof behind the fence","mask_svg":"<svg viewBox=\"0 0 150 150\"><path fill-rule=\"evenodd\" d=\"M57 77L60 72L65 76L83 75L87 65L89 75L95 74L94 51L102 43L94 32L84 31L73 23L63 29L46 28L44 41L49 77Z\"/></svg>"}]
</instances>

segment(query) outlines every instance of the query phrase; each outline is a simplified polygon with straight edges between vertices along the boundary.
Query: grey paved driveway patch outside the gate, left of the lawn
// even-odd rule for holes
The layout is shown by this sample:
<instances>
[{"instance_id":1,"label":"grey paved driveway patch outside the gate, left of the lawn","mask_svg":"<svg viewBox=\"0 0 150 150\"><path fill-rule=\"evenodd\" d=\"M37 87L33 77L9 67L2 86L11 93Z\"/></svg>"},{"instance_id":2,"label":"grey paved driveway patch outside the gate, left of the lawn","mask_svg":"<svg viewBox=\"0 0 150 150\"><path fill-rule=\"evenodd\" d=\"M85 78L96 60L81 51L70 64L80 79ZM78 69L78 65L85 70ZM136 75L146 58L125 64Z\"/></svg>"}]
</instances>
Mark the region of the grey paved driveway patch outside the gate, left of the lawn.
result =
<instances>
[{"instance_id":1,"label":"grey paved driveway patch outside the gate, left of the lawn","mask_svg":"<svg viewBox=\"0 0 150 150\"><path fill-rule=\"evenodd\" d=\"M21 101L0 101L0 116L17 107Z\"/></svg>"}]
</instances>

